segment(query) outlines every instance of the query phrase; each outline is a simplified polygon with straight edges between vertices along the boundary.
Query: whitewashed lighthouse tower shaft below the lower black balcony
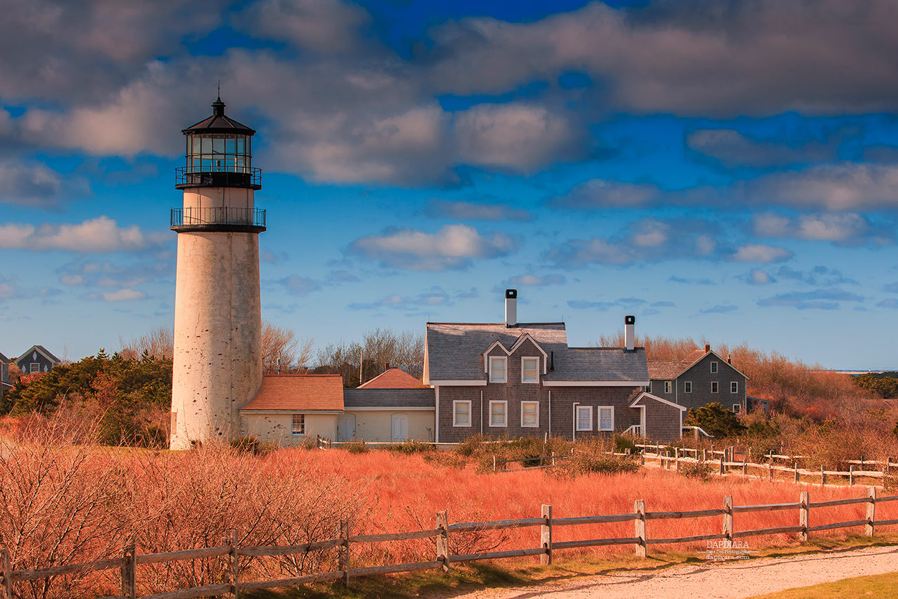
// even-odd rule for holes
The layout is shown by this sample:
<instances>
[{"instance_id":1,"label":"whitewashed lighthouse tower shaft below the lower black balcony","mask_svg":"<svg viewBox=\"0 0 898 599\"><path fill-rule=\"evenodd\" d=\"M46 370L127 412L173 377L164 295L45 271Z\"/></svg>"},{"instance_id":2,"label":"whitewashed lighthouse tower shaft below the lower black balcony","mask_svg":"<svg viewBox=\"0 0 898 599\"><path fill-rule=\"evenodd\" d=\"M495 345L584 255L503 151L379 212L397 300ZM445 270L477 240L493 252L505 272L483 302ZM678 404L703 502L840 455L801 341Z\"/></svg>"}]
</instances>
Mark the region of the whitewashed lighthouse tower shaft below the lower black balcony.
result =
<instances>
[{"instance_id":1,"label":"whitewashed lighthouse tower shaft below the lower black balcony","mask_svg":"<svg viewBox=\"0 0 898 599\"><path fill-rule=\"evenodd\" d=\"M179 232L172 449L241 436L262 384L259 234Z\"/></svg>"}]
</instances>

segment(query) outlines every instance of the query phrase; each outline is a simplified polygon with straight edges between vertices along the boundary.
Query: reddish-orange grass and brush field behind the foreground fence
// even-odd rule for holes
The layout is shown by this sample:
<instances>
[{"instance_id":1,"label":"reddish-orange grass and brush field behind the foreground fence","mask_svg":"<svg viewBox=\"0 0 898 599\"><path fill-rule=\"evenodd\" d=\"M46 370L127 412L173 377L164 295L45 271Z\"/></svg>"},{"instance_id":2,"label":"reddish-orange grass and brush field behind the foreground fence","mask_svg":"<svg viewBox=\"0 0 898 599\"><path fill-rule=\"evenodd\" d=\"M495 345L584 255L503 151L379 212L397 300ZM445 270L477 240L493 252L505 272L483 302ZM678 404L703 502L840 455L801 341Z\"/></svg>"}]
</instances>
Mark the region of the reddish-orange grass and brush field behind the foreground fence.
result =
<instances>
[{"instance_id":1,"label":"reddish-orange grass and brush field behind the foreground fence","mask_svg":"<svg viewBox=\"0 0 898 599\"><path fill-rule=\"evenodd\" d=\"M8 432L7 432L8 434ZM551 504L558 517L625 514L644 499L649 511L797 501L801 487L739 478L700 482L671 471L641 469L615 475L573 476L552 471L494 474L476 458L344 450L279 449L252 454L225 445L172 453L93 445L89 429L35 418L0 444L0 544L13 568L47 568L118 557L129 542L141 553L213 547L236 529L242 545L299 544L336 536L340 519L353 533L418 530L450 522L534 517ZM861 495L862 489L811 489L814 500ZM896 504L883 507L892 515ZM814 511L838 520L863 517L858 506ZM736 515L736 530L797 524L797 513ZM719 518L650 521L650 537L718 533ZM559 528L559 541L631 536L633 525ZM468 553L534 547L538 529L453 534L453 551ZM792 536L753 538L753 548L794 543ZM658 549L665 549L664 547ZM679 551L700 551L693 545ZM572 552L612 555L632 548ZM431 540L357 544L357 565L433 559ZM242 559L242 577L297 576L336 568L332 551L294 559ZM16 585L19 597L89 597L116 591L118 572L84 573ZM224 559L197 559L138 568L142 595L227 579Z\"/></svg>"}]
</instances>

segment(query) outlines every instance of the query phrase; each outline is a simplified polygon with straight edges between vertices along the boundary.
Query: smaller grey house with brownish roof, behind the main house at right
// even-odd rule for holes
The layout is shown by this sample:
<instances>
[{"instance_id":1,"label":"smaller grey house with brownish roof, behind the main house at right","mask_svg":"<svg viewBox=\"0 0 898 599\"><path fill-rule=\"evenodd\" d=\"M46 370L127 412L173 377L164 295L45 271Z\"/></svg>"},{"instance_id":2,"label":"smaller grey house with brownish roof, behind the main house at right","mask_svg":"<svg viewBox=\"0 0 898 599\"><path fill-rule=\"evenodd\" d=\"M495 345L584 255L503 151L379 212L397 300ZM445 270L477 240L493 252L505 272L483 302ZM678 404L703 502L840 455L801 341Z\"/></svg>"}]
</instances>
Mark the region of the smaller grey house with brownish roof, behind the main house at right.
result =
<instances>
[{"instance_id":1,"label":"smaller grey house with brownish roof, behind the main house at right","mask_svg":"<svg viewBox=\"0 0 898 599\"><path fill-rule=\"evenodd\" d=\"M711 351L710 345L705 345L704 350L696 349L682 360L649 360L648 376L648 392L688 409L719 403L742 413L748 407L748 377Z\"/></svg>"}]
</instances>

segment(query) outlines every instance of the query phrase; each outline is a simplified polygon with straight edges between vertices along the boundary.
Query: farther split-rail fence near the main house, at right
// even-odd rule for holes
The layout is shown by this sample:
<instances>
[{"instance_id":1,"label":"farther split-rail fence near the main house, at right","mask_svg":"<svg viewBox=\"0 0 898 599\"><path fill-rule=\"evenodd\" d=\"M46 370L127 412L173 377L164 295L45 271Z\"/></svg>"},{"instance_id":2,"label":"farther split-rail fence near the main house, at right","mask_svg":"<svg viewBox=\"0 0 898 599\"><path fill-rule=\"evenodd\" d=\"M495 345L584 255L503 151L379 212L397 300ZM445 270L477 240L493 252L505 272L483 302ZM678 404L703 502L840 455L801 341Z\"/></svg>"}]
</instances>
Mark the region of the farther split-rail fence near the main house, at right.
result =
<instances>
[{"instance_id":1,"label":"farther split-rail fence near the main house, at right","mask_svg":"<svg viewBox=\"0 0 898 599\"><path fill-rule=\"evenodd\" d=\"M854 485L858 478L879 479L885 481L886 477L898 476L898 462L894 458L888 458L885 462L876 460L849 460L849 469L847 471L830 471L825 466L821 466L820 470L806 470L798 467L798 460L803 456L790 456L779 454L764 454L768 458L767 463L748 462L747 456L743 457L742 462L735 460L735 448L726 447L723 450L707 450L707 449L690 449L688 447L671 447L669 445L637 445L643 449L641 455L643 460L657 460L662 468L674 468L680 470L681 463L705 462L715 466L718 474L726 474L735 469L744 476L754 476L774 480L774 472L785 472L788 474L787 480L795 480L801 482L801 477L819 478L820 484L825 486L830 477L844 477L848 479L849 486ZM648 449L654 449L655 452L649 453ZM693 454L695 457L690 457ZM782 466L774 464L777 459L787 459L792 461L791 466ZM858 465L882 465L882 471L876 470L856 470L855 464ZM752 469L753 474L750 474ZM880 484L878 486L885 486Z\"/></svg>"}]
</instances>

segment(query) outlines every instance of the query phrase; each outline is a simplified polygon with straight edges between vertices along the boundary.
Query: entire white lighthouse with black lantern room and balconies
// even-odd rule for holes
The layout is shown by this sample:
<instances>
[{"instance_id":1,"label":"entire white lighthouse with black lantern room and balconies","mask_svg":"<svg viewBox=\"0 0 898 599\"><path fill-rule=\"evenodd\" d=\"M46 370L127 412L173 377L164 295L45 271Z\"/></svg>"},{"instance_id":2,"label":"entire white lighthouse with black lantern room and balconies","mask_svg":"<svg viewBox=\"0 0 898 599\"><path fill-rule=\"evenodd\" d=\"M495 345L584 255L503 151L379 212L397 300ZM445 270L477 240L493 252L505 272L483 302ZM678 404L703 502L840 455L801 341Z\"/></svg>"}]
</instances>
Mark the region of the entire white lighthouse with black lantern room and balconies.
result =
<instances>
[{"instance_id":1,"label":"entire white lighthouse with black lantern room and balconies","mask_svg":"<svg viewBox=\"0 0 898 599\"><path fill-rule=\"evenodd\" d=\"M176 169L181 207L172 364L172 449L241 435L240 407L262 384L259 233L260 169L252 166L255 131L225 116L182 129L186 163Z\"/></svg>"}]
</instances>

